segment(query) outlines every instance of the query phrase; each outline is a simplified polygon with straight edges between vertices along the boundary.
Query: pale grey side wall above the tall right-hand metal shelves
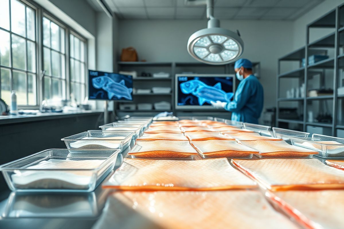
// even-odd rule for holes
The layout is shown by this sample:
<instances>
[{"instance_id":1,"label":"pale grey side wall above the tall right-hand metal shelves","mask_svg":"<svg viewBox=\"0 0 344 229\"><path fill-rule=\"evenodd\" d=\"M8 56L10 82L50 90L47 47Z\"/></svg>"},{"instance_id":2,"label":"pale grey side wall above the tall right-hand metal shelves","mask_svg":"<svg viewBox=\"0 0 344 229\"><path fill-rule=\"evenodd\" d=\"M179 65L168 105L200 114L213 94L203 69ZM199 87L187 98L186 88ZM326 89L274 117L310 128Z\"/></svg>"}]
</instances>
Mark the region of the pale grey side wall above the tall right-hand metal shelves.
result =
<instances>
[{"instance_id":1,"label":"pale grey side wall above the tall right-hand metal shelves","mask_svg":"<svg viewBox=\"0 0 344 229\"><path fill-rule=\"evenodd\" d=\"M325 13L333 10L338 5L342 4L343 0L325 0L309 12L302 15L293 23L293 50L300 48L306 44L306 26L314 20L320 18ZM314 41L316 38L320 38L326 34L325 31L319 31L319 33L312 34L310 41Z\"/></svg>"}]
</instances>

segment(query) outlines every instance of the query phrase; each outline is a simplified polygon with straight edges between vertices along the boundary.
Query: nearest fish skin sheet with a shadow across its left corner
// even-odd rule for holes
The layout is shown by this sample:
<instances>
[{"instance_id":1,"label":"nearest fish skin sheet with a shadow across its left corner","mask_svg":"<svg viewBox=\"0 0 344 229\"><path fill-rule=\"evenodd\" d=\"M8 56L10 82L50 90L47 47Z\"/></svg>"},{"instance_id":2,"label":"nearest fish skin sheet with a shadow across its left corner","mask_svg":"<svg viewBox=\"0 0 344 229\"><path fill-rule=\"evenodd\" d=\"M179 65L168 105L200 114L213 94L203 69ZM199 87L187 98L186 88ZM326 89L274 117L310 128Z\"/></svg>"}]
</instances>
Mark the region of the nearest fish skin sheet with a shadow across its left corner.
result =
<instances>
[{"instance_id":1,"label":"nearest fish skin sheet with a shadow across its left corner","mask_svg":"<svg viewBox=\"0 0 344 229\"><path fill-rule=\"evenodd\" d=\"M94 229L296 229L258 191L114 192Z\"/></svg>"}]
</instances>

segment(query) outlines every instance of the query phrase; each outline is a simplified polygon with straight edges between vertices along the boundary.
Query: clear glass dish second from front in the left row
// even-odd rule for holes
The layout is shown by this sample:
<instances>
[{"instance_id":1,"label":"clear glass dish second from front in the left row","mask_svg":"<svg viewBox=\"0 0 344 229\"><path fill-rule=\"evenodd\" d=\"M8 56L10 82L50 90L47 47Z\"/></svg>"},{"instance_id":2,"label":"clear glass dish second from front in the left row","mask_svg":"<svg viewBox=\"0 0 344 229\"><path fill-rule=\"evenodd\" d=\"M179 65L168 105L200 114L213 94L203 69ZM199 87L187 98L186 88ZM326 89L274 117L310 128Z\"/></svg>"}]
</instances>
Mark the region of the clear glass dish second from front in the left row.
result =
<instances>
[{"instance_id":1,"label":"clear glass dish second from front in the left row","mask_svg":"<svg viewBox=\"0 0 344 229\"><path fill-rule=\"evenodd\" d=\"M124 149L130 145L133 133L88 130L61 140L68 149Z\"/></svg>"}]
</instances>

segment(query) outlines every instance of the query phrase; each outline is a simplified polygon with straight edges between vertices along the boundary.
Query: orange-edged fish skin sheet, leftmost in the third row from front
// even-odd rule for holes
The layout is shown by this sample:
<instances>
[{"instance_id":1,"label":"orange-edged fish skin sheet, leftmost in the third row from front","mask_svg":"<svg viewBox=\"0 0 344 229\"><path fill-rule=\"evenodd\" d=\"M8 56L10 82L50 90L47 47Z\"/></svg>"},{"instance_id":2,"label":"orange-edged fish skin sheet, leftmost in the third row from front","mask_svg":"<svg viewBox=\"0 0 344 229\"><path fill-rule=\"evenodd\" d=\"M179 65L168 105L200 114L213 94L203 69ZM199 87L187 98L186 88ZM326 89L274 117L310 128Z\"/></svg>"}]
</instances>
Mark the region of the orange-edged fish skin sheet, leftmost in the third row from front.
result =
<instances>
[{"instance_id":1,"label":"orange-edged fish skin sheet, leftmost in the third row from front","mask_svg":"<svg viewBox=\"0 0 344 229\"><path fill-rule=\"evenodd\" d=\"M140 158L183 158L197 155L197 151L189 141L155 140L136 141L136 145L128 152L128 155L140 156Z\"/></svg>"}]
</instances>

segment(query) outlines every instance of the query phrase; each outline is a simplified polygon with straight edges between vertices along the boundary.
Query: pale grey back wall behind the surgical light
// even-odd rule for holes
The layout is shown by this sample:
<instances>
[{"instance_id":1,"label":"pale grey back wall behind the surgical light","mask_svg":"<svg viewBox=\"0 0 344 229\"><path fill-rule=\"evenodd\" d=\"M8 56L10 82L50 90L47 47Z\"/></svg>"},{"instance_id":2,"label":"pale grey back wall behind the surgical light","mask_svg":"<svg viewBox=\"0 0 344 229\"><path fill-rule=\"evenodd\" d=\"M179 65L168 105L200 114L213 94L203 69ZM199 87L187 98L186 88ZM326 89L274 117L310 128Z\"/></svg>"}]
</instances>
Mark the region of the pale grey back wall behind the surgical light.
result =
<instances>
[{"instance_id":1,"label":"pale grey back wall behind the surgical light","mask_svg":"<svg viewBox=\"0 0 344 229\"><path fill-rule=\"evenodd\" d=\"M187 53L187 40L206 26L205 20L121 20L119 48L133 46L147 61L196 61ZM265 107L276 106L277 58L292 48L292 26L286 21L221 21L223 28L239 29L243 58L261 62Z\"/></svg>"}]
</instances>

